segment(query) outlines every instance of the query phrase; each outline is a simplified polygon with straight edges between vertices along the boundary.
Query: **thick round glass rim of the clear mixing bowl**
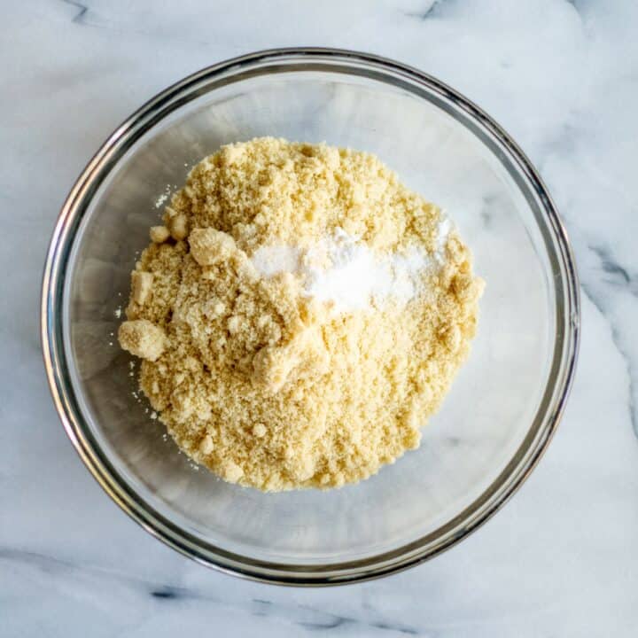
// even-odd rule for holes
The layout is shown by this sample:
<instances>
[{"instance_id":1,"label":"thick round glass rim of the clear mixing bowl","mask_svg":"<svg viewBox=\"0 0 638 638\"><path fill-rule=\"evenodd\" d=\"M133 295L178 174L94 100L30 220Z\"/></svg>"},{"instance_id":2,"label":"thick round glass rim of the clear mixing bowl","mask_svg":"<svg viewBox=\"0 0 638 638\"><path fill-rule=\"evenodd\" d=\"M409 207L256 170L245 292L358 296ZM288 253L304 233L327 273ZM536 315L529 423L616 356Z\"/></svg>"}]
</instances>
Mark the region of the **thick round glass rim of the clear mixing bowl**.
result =
<instances>
[{"instance_id":1,"label":"thick round glass rim of the clear mixing bowl","mask_svg":"<svg viewBox=\"0 0 638 638\"><path fill-rule=\"evenodd\" d=\"M434 532L383 554L342 563L281 564L239 556L201 541L144 502L119 476L113 464L94 444L92 437L87 435L88 428L82 410L75 401L74 388L66 368L61 330L63 322L60 318L60 307L63 301L66 261L74 244L75 233L99 183L108 175L117 160L139 136L144 135L149 128L165 117L167 113L162 113L162 110L166 110L167 106L172 105L171 110L174 110L199 94L218 88L222 85L220 82L229 82L229 78L231 81L232 78L237 81L237 75L245 73L246 70L261 68L277 72L286 64L308 66L304 68L307 71L334 70L331 65L338 64L344 69L343 73L359 70L360 75L374 77L387 83L394 83L391 82L394 78L396 82L401 80L414 87L421 87L430 95L433 93L453 104L467 117L468 122L485 131L486 136L509 155L517 167L518 177L533 191L548 224L549 237L545 239L547 241L550 238L555 244L556 265L562 275L558 280L560 291L556 291L556 297L558 292L563 293L564 308L558 303L560 300L557 300L557 312L560 310L561 315L558 318L561 321L556 319L556 344L545 395L530 431L506 468L474 502ZM322 64L324 66L321 66ZM206 90L201 89L202 82L206 82ZM416 89L413 92L416 92ZM186 97L190 99L186 100ZM556 432L556 425L564 412L565 402L572 387L580 345L580 285L572 248L563 223L540 175L503 128L471 100L429 74L377 55L323 47L269 49L206 66L160 91L116 128L89 160L60 210L51 237L43 272L41 338L44 368L51 396L66 434L97 483L129 517L159 541L199 564L261 582L327 586L373 580L401 572L439 555L494 516L525 482ZM534 424L537 424L535 432Z\"/></svg>"}]
</instances>

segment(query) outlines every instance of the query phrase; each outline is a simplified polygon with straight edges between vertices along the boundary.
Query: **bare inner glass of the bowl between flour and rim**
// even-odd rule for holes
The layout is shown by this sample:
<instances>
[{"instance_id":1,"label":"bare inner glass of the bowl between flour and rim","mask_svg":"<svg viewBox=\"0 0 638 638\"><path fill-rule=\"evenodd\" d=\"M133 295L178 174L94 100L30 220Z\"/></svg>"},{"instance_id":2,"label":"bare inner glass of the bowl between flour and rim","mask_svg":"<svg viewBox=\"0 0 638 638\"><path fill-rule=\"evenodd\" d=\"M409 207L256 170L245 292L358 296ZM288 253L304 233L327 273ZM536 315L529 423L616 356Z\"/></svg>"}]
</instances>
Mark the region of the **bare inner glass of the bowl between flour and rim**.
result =
<instances>
[{"instance_id":1,"label":"bare inner glass of the bowl between flour and rim","mask_svg":"<svg viewBox=\"0 0 638 638\"><path fill-rule=\"evenodd\" d=\"M359 485L261 494L198 469L152 419L135 363L114 337L129 272L165 197L220 144L253 136L377 153L447 210L486 280L471 359L421 447ZM144 507L248 561L343 563L436 536L525 447L556 347L547 230L509 160L434 92L373 74L273 67L195 91L115 159L74 237L62 324L86 436Z\"/></svg>"}]
</instances>

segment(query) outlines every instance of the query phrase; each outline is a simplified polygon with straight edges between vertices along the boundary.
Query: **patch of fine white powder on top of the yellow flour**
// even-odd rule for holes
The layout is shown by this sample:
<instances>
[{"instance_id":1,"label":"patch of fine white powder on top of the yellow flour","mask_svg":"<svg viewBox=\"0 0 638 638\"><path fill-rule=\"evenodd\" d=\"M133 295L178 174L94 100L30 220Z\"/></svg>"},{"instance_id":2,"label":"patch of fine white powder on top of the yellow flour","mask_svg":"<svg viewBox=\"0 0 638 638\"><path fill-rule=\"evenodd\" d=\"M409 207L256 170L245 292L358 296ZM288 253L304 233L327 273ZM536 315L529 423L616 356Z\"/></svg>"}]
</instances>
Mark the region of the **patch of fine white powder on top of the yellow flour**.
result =
<instances>
[{"instance_id":1,"label":"patch of fine white powder on top of the yellow flour","mask_svg":"<svg viewBox=\"0 0 638 638\"><path fill-rule=\"evenodd\" d=\"M300 276L308 297L332 301L335 311L379 306L384 300L407 303L418 292L424 269L445 261L447 237L454 226L440 222L433 260L424 251L379 257L358 237L338 229L305 250L290 245L262 246L253 254L253 264L263 276L292 272Z\"/></svg>"}]
</instances>

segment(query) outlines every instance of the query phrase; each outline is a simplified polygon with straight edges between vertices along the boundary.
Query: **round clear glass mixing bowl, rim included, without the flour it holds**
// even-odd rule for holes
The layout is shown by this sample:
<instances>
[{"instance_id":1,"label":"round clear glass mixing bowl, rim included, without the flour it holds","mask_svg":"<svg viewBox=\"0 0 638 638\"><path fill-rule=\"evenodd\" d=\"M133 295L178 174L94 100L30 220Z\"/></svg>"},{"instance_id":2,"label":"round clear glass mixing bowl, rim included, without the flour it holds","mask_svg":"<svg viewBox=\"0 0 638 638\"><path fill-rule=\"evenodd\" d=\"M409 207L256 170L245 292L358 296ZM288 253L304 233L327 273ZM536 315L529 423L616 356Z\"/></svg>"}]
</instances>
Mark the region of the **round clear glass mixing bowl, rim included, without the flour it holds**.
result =
<instances>
[{"instance_id":1,"label":"round clear glass mixing bowl, rim included, without the flour it holds","mask_svg":"<svg viewBox=\"0 0 638 638\"><path fill-rule=\"evenodd\" d=\"M261 494L198 470L136 399L113 333L161 195L254 136L376 153L447 209L486 279L478 337L421 447L355 486ZM349 51L264 51L154 97L90 160L43 281L43 351L66 432L122 510L199 563L336 584L396 572L481 525L547 447L572 382L579 298L548 192L486 113L415 69Z\"/></svg>"}]
</instances>

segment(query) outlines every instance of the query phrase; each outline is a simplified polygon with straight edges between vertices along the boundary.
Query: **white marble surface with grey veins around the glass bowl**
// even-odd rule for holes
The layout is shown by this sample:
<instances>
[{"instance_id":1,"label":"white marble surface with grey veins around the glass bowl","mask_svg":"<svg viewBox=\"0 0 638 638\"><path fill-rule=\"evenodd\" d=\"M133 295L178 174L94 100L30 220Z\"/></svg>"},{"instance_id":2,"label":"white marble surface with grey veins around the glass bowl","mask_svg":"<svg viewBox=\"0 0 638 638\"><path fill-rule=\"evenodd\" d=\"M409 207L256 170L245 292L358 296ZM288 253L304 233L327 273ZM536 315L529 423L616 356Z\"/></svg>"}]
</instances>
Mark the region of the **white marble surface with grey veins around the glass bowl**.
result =
<instances>
[{"instance_id":1,"label":"white marble surface with grey veins around the glass bowl","mask_svg":"<svg viewBox=\"0 0 638 638\"><path fill-rule=\"evenodd\" d=\"M0 37L0 635L634 636L638 625L638 4L34 0ZM185 74L314 44L423 68L541 169L580 266L583 339L548 454L444 556L351 587L237 580L152 540L66 440L38 298L58 207L105 136Z\"/></svg>"}]
</instances>

